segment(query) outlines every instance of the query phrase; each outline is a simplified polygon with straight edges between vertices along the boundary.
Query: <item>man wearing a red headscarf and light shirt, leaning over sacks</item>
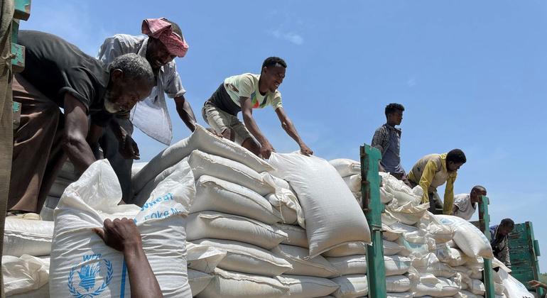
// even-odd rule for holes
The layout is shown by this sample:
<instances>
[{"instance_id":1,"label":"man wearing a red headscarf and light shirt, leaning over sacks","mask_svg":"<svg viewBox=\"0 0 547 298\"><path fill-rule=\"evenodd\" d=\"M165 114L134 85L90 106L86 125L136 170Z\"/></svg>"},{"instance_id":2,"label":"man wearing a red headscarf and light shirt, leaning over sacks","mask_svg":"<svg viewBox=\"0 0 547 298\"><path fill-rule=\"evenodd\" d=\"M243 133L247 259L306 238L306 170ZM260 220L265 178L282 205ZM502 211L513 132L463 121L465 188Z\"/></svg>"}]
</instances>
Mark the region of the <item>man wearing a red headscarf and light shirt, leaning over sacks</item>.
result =
<instances>
[{"instance_id":1,"label":"man wearing a red headscarf and light shirt, leaning over sacks","mask_svg":"<svg viewBox=\"0 0 547 298\"><path fill-rule=\"evenodd\" d=\"M167 110L166 94L175 99L178 115L190 131L194 131L197 123L190 104L184 98L186 90L173 60L175 57L184 57L188 51L182 31L176 23L166 18L146 18L142 22L142 33L145 35L117 34L109 37L104 40L97 55L99 60L108 64L119 55L136 53L146 57L156 74L156 87L150 96L131 111L117 114L117 121L124 129L112 126L112 129L104 131L99 140L103 157L109 160L118 176L124 202L130 202L133 198L131 166L133 160L139 159L139 149L131 138L134 126L169 145L173 138L173 126ZM133 155L122 156L119 153L118 148L126 146L134 148ZM100 155L99 148L94 148L94 152Z\"/></svg>"}]
</instances>

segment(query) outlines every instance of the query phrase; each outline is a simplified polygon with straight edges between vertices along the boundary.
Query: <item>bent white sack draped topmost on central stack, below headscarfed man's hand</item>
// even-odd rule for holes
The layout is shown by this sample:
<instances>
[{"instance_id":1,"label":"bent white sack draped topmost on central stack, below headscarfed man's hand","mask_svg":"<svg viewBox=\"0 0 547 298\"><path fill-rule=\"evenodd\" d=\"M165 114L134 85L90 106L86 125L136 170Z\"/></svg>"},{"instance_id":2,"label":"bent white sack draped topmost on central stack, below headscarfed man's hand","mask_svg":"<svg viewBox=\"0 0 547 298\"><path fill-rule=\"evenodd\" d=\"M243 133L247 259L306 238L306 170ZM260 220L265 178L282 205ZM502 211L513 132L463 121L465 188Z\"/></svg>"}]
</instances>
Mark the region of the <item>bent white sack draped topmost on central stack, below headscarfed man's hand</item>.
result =
<instances>
[{"instance_id":1,"label":"bent white sack draped topmost on central stack, below headscarfed man's hand","mask_svg":"<svg viewBox=\"0 0 547 298\"><path fill-rule=\"evenodd\" d=\"M131 179L135 193L138 193L148 181L153 180L163 170L190 155L193 150L201 150L205 153L241 162L256 172L273 170L268 162L257 157L246 148L225 138L219 138L202 126L196 126L192 135L158 153L142 170L136 173L133 179Z\"/></svg>"}]
</instances>

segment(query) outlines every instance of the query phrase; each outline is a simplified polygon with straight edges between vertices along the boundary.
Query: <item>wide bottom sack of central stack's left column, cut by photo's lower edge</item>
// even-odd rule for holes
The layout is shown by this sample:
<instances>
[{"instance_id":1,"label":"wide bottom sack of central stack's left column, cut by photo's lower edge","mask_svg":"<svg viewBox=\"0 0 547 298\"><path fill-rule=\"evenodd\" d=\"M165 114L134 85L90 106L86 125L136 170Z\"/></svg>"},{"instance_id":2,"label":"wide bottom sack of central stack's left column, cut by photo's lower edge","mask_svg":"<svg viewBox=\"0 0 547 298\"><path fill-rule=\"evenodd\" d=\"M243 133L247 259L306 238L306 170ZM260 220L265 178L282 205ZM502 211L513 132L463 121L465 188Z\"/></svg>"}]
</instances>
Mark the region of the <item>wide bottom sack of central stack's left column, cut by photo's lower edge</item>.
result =
<instances>
[{"instance_id":1,"label":"wide bottom sack of central stack's left column, cut by photo's lower edge","mask_svg":"<svg viewBox=\"0 0 547 298\"><path fill-rule=\"evenodd\" d=\"M199 298L279 298L288 294L288 287L276 279L215 269L215 277Z\"/></svg>"}]
</instances>

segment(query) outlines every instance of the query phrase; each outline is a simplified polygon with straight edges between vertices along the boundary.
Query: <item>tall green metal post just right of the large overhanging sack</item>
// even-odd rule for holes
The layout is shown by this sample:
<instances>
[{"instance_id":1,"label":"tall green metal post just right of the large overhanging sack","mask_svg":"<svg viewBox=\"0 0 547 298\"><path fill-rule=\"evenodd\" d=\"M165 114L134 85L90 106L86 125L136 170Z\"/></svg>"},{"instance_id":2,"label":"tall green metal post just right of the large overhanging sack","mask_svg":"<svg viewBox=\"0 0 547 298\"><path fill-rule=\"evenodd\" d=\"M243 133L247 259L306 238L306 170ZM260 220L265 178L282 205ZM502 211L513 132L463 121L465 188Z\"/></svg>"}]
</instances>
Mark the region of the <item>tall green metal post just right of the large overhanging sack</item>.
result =
<instances>
[{"instance_id":1,"label":"tall green metal post just right of the large overhanging sack","mask_svg":"<svg viewBox=\"0 0 547 298\"><path fill-rule=\"evenodd\" d=\"M384 245L381 237L380 176L378 163L380 151L367 144L361 146L361 177L363 212L367 217L372 236L372 245L367 245L368 297L386 297L386 268L384 267Z\"/></svg>"}]
</instances>

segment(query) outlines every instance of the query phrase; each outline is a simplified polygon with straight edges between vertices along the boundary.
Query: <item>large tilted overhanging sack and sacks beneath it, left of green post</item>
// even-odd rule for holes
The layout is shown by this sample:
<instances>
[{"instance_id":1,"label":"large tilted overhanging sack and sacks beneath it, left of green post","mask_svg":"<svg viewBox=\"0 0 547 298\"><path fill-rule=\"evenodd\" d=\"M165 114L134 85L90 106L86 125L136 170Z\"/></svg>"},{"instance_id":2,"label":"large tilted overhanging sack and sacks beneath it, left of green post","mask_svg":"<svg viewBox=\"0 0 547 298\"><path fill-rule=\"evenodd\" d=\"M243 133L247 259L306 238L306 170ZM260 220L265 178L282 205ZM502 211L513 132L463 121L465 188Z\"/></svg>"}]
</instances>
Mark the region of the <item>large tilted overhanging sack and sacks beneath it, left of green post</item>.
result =
<instances>
[{"instance_id":1,"label":"large tilted overhanging sack and sacks beneath it, left of green post","mask_svg":"<svg viewBox=\"0 0 547 298\"><path fill-rule=\"evenodd\" d=\"M370 242L370 232L367 220L344 180L321 158L300 153L273 153L269 161L276 168L273 175L286 180L294 189L305 214L305 230L283 227L288 240L276 251L291 262L293 270L287 273L293 276L283 275L282 281L292 280L298 285L293 280L297 275L308 275L316 280L330 278L331 284L325 279L322 284L329 285L328 292L332 296L366 296L364 248L365 243ZM293 290L295 286L289 285L291 297L320 297L319 292L297 292Z\"/></svg>"}]
</instances>

